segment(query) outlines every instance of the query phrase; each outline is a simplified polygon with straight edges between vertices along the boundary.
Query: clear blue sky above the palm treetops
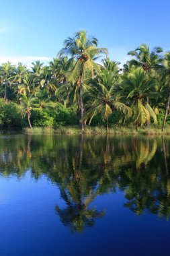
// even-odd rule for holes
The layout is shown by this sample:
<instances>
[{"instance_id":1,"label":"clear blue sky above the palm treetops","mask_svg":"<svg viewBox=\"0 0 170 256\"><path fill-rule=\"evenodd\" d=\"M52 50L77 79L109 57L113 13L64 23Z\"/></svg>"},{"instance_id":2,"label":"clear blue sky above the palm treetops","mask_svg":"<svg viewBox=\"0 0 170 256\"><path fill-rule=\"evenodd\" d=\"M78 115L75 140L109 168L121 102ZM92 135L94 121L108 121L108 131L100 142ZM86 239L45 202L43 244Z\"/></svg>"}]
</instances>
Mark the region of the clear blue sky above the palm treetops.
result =
<instances>
[{"instance_id":1,"label":"clear blue sky above the palm treetops","mask_svg":"<svg viewBox=\"0 0 170 256\"><path fill-rule=\"evenodd\" d=\"M81 29L97 37L110 58L126 62L142 42L170 51L169 0L1 0L0 63L56 57Z\"/></svg>"}]
</instances>

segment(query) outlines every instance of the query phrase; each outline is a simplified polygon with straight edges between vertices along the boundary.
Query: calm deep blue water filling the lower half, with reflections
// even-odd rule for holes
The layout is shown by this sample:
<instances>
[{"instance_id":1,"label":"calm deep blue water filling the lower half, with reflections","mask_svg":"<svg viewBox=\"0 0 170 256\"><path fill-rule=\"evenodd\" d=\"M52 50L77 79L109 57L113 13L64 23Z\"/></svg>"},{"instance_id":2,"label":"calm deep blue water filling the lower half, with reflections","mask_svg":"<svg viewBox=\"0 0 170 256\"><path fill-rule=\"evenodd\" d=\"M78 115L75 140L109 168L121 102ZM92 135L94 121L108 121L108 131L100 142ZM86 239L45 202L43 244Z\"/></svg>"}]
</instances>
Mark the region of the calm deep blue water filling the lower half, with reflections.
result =
<instances>
[{"instance_id":1,"label":"calm deep blue water filling the lower half, with reflections","mask_svg":"<svg viewBox=\"0 0 170 256\"><path fill-rule=\"evenodd\" d=\"M0 255L168 255L169 137L0 135Z\"/></svg>"}]
</instances>

